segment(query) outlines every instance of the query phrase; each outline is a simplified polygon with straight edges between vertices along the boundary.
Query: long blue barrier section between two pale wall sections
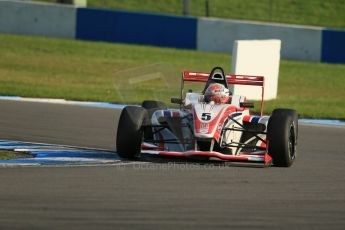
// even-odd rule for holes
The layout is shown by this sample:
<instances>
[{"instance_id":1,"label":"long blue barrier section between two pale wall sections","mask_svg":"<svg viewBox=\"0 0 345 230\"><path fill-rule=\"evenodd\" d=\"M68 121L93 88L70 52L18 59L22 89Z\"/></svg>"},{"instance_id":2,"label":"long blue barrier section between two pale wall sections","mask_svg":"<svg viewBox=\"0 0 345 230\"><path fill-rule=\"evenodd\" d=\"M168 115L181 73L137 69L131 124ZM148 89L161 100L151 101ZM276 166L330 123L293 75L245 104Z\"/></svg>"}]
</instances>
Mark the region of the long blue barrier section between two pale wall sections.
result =
<instances>
[{"instance_id":1,"label":"long blue barrier section between two pale wall sections","mask_svg":"<svg viewBox=\"0 0 345 230\"><path fill-rule=\"evenodd\" d=\"M77 39L196 49L192 17L78 8Z\"/></svg>"}]
</instances>

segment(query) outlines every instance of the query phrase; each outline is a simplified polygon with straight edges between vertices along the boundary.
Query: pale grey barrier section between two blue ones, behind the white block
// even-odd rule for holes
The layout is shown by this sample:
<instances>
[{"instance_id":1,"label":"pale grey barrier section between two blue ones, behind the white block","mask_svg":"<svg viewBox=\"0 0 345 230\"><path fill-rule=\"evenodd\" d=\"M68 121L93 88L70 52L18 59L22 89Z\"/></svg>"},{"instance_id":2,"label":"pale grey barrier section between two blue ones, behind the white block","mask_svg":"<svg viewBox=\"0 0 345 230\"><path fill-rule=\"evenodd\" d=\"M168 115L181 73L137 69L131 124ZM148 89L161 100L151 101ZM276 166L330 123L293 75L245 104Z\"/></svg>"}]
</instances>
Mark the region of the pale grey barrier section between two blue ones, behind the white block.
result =
<instances>
[{"instance_id":1,"label":"pale grey barrier section between two blue ones, behind the white block","mask_svg":"<svg viewBox=\"0 0 345 230\"><path fill-rule=\"evenodd\" d=\"M322 28L319 27L200 18L197 33L198 50L231 53L235 40L279 39L283 58L321 60Z\"/></svg>"}]
</instances>

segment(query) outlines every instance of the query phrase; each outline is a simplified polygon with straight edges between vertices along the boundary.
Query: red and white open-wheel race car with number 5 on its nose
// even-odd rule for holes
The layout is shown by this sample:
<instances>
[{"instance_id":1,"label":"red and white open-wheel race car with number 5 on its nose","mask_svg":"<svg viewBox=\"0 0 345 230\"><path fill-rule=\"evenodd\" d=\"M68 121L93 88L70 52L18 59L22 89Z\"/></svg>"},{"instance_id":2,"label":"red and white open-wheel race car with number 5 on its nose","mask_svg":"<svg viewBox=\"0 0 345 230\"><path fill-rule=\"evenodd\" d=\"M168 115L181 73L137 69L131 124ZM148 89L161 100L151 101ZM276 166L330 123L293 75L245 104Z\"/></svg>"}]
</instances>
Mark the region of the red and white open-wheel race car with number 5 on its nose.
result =
<instances>
[{"instance_id":1,"label":"red and white open-wheel race car with number 5 on its nose","mask_svg":"<svg viewBox=\"0 0 345 230\"><path fill-rule=\"evenodd\" d=\"M185 82L200 82L202 92L184 92ZM251 115L245 96L232 95L229 85L262 89L261 115ZM211 73L183 72L181 97L168 109L160 101L127 106L120 116L117 152L124 158L140 154L187 157L263 166L289 167L296 156L298 114L275 109L263 115L264 77L225 74L215 67Z\"/></svg>"}]
</instances>

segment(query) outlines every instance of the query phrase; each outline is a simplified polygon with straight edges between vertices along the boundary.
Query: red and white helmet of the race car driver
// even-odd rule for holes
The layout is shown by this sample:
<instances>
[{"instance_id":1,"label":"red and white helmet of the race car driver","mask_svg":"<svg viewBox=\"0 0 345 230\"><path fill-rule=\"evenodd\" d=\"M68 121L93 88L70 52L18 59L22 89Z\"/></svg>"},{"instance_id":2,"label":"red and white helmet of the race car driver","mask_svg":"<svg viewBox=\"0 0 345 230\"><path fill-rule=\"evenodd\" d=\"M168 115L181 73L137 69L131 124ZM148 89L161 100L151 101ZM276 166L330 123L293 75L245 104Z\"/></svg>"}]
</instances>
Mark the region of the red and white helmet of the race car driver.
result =
<instances>
[{"instance_id":1,"label":"red and white helmet of the race car driver","mask_svg":"<svg viewBox=\"0 0 345 230\"><path fill-rule=\"evenodd\" d=\"M229 89L219 83L210 84L205 91L205 102L221 104L229 101Z\"/></svg>"}]
</instances>

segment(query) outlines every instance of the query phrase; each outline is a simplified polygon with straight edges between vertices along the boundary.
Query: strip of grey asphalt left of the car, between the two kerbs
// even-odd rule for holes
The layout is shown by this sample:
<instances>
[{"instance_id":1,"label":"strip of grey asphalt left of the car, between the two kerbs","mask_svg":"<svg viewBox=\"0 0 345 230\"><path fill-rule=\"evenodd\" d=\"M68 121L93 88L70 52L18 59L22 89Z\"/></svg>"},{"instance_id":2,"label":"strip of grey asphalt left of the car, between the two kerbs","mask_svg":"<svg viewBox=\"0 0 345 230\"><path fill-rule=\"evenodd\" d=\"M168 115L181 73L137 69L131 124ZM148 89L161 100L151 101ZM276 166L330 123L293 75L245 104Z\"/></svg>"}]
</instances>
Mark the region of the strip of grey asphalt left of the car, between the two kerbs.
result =
<instances>
[{"instance_id":1,"label":"strip of grey asphalt left of the car, between the two kerbs","mask_svg":"<svg viewBox=\"0 0 345 230\"><path fill-rule=\"evenodd\" d=\"M0 100L0 139L115 150L119 115L111 108Z\"/></svg>"}]
</instances>

